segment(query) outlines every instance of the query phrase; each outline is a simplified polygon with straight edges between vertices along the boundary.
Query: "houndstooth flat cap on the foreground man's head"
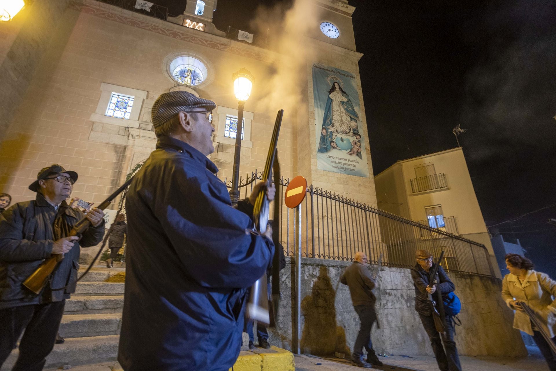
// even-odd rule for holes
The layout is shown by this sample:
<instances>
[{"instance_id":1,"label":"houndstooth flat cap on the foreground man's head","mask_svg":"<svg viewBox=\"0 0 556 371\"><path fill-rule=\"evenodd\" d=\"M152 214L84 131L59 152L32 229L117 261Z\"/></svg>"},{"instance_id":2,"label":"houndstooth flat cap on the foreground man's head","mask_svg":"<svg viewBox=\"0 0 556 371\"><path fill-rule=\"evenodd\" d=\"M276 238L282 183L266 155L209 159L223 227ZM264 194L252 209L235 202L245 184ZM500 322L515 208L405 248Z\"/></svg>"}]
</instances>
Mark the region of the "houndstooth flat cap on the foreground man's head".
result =
<instances>
[{"instance_id":1,"label":"houndstooth flat cap on the foreground man's head","mask_svg":"<svg viewBox=\"0 0 556 371\"><path fill-rule=\"evenodd\" d=\"M162 93L152 105L152 125L160 126L176 113L190 112L192 108L205 108L207 111L212 111L216 108L216 103L181 90Z\"/></svg>"}]
</instances>

